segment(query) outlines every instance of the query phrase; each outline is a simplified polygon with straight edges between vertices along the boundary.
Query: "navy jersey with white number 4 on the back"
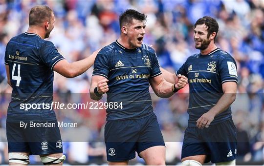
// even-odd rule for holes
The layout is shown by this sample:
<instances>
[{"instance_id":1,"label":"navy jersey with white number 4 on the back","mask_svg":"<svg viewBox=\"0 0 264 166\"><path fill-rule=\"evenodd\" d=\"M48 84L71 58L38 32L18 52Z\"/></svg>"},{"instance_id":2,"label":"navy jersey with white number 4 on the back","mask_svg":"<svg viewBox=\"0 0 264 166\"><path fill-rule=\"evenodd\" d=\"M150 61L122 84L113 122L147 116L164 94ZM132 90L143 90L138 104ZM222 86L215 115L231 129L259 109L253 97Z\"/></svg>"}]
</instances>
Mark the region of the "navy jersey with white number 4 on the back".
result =
<instances>
[{"instance_id":1,"label":"navy jersey with white number 4 on the back","mask_svg":"<svg viewBox=\"0 0 264 166\"><path fill-rule=\"evenodd\" d=\"M7 122L53 121L53 67L63 60L54 44L37 34L22 33L12 38L6 46L4 63L9 66L12 99L8 106ZM24 104L32 104L25 110ZM33 109L35 108L35 109Z\"/></svg>"}]
</instances>

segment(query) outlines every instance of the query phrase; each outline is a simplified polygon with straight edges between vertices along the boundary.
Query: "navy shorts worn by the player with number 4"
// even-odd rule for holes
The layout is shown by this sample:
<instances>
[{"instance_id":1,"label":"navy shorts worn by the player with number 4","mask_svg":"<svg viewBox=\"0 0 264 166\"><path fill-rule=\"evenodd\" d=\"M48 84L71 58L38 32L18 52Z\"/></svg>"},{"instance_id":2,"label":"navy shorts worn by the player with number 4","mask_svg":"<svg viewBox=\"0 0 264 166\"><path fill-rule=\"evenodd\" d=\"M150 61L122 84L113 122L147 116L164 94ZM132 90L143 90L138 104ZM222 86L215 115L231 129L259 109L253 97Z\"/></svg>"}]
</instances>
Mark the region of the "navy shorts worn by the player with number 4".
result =
<instances>
[{"instance_id":1,"label":"navy shorts worn by the player with number 4","mask_svg":"<svg viewBox=\"0 0 264 166\"><path fill-rule=\"evenodd\" d=\"M57 121L51 127L22 127L20 123L6 122L8 152L29 152L33 155L62 153L62 139ZM55 125L55 126L54 126Z\"/></svg>"}]
</instances>

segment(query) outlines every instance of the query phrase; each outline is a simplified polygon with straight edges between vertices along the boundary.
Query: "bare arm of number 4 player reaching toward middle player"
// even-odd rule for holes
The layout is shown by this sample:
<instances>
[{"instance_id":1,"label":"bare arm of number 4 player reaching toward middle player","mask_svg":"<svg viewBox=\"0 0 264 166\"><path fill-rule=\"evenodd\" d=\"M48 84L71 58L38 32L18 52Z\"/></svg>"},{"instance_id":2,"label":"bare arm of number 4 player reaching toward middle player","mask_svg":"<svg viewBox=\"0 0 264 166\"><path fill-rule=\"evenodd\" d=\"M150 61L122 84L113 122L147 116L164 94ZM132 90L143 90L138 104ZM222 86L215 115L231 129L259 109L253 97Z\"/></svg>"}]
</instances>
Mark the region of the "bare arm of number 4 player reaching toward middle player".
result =
<instances>
[{"instance_id":1,"label":"bare arm of number 4 player reaching toward middle player","mask_svg":"<svg viewBox=\"0 0 264 166\"><path fill-rule=\"evenodd\" d=\"M55 64L53 70L67 78L77 77L86 72L93 65L99 51L100 50L96 50L89 57L72 63L61 60Z\"/></svg>"}]
</instances>

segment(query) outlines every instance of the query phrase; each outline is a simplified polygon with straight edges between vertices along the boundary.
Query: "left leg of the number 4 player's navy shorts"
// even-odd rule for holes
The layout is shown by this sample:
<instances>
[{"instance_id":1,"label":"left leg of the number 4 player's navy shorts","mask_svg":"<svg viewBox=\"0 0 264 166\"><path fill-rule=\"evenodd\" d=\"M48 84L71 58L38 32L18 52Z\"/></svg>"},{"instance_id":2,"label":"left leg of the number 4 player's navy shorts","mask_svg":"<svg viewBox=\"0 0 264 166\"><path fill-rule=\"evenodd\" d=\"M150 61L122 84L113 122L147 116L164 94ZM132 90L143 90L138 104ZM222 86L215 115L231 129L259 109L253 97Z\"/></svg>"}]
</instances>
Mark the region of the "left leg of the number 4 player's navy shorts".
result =
<instances>
[{"instance_id":1,"label":"left leg of the number 4 player's navy shorts","mask_svg":"<svg viewBox=\"0 0 264 166\"><path fill-rule=\"evenodd\" d=\"M6 137L8 152L30 152L29 145L24 137L25 129L19 123L6 122Z\"/></svg>"}]
</instances>

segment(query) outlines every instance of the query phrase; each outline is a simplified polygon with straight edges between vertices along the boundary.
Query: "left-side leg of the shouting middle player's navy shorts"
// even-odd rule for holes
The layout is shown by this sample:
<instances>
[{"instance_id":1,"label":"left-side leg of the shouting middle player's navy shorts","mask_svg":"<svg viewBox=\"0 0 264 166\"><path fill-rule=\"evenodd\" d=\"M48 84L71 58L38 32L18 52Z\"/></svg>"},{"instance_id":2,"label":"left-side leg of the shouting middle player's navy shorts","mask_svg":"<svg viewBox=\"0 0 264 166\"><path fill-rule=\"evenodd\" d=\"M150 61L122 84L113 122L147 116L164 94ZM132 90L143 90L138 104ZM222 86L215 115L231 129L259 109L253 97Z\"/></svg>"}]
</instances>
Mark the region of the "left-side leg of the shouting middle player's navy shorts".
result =
<instances>
[{"instance_id":1,"label":"left-side leg of the shouting middle player's navy shorts","mask_svg":"<svg viewBox=\"0 0 264 166\"><path fill-rule=\"evenodd\" d=\"M135 158L139 126L136 120L109 121L105 125L107 161L126 162Z\"/></svg>"}]
</instances>

